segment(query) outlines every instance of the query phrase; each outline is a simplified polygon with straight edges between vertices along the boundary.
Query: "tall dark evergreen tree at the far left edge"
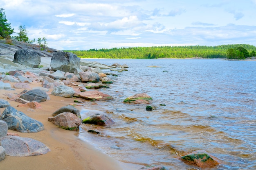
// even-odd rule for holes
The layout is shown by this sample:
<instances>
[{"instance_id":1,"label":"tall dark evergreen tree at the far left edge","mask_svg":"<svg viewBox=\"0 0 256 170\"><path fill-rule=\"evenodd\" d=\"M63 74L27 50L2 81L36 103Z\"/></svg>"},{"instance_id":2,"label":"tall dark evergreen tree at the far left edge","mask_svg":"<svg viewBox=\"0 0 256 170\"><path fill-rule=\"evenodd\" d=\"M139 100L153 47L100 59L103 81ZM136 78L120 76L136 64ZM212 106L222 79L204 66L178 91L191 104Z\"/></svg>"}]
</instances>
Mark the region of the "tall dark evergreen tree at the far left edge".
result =
<instances>
[{"instance_id":1,"label":"tall dark evergreen tree at the far left edge","mask_svg":"<svg viewBox=\"0 0 256 170\"><path fill-rule=\"evenodd\" d=\"M0 9L0 36L7 38L13 33L14 28L11 28L11 23L7 22L4 9Z\"/></svg>"}]
</instances>

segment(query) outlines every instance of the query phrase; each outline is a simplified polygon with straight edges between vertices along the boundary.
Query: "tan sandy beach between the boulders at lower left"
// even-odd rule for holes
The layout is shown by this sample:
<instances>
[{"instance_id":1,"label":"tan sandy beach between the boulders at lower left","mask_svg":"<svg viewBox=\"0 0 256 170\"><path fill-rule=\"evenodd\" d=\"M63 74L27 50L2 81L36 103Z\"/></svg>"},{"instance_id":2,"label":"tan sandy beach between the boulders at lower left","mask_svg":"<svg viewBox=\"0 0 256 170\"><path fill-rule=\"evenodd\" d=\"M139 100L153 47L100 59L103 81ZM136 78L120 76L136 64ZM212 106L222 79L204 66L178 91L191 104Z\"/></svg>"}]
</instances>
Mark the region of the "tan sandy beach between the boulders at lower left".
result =
<instances>
[{"instance_id":1,"label":"tan sandy beach between the boulders at lower left","mask_svg":"<svg viewBox=\"0 0 256 170\"><path fill-rule=\"evenodd\" d=\"M13 87L14 83L10 83ZM29 84L31 88L41 86L39 83ZM125 168L121 163L109 155L101 153L99 150L81 141L75 131L61 129L47 118L52 117L52 113L57 109L74 102L73 98L63 98L49 94L50 100L40 102L41 109L29 109L28 107L17 107L20 103L10 101L6 93L19 94L23 89L15 91L0 90L2 99L9 101L10 105L22 111L27 116L34 118L44 124L44 130L37 133L19 133L8 130L9 133L17 133L20 137L29 137L43 142L51 149L45 155L30 157L10 157L6 156L0 162L1 170L121 170ZM51 91L51 90L50 90ZM78 109L81 109L77 107ZM2 113L5 108L1 108ZM122 164L122 165L121 165Z\"/></svg>"}]
</instances>

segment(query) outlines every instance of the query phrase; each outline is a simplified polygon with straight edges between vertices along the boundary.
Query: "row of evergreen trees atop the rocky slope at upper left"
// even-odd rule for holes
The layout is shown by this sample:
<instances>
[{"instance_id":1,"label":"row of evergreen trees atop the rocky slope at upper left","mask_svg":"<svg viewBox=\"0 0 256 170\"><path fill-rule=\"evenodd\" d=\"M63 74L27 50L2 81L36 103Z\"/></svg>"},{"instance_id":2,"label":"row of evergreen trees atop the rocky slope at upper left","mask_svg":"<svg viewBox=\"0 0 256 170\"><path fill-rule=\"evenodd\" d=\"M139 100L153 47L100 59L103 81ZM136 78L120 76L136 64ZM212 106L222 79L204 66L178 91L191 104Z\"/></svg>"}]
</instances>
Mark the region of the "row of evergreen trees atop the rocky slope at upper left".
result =
<instances>
[{"instance_id":1,"label":"row of evergreen trees atop the rocky slope at upper left","mask_svg":"<svg viewBox=\"0 0 256 170\"><path fill-rule=\"evenodd\" d=\"M26 26L19 26L18 28L19 32L17 33L18 36L11 37L11 34L14 33L14 28L11 28L11 23L8 22L6 19L5 11L3 8L0 9L0 37L5 38L7 41L7 44L11 44L11 38L16 39L18 41L26 42L33 44L36 42L35 39L30 40L29 37L27 37L27 29ZM47 47L47 39L45 37L38 38L37 44L40 46L41 50L45 50Z\"/></svg>"}]
</instances>

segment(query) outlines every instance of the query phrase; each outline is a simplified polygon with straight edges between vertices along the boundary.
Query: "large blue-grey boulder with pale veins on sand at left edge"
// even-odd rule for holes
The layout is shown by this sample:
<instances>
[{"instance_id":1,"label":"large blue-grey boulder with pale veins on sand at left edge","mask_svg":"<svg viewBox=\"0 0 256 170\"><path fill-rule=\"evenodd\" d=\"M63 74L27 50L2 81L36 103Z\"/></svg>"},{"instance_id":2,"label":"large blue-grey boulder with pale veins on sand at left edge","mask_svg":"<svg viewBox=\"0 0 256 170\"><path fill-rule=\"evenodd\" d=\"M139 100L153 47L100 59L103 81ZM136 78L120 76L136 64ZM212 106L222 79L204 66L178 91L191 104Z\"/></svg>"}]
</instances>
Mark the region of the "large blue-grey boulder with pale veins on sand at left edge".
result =
<instances>
[{"instance_id":1,"label":"large blue-grey boulder with pale veins on sand at left edge","mask_svg":"<svg viewBox=\"0 0 256 170\"><path fill-rule=\"evenodd\" d=\"M11 106L3 111L0 120L7 123L8 129L22 133L35 133L44 129L41 122L28 117Z\"/></svg>"}]
</instances>

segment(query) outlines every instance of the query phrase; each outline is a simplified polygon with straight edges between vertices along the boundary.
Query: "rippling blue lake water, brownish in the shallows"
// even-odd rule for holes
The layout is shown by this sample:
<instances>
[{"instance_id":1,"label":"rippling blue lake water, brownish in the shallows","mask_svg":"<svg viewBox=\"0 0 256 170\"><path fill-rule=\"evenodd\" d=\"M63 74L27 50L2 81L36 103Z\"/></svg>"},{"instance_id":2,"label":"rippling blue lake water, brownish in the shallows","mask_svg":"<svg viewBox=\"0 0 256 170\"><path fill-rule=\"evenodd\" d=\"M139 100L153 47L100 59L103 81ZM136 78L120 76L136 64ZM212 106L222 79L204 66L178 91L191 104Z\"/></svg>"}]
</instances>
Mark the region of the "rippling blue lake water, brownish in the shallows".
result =
<instances>
[{"instance_id":1,"label":"rippling blue lake water, brownish in the shallows","mask_svg":"<svg viewBox=\"0 0 256 170\"><path fill-rule=\"evenodd\" d=\"M115 124L110 128L82 124L79 137L84 141L119 161L141 167L156 164L193 169L196 167L178 158L206 150L221 161L212 169L256 169L256 61L88 60L129 68L124 72L103 70L118 75L110 76L115 81L110 89L99 89L114 100L97 101L98 105L85 102L81 116L104 113ZM122 102L139 93L151 96L150 105L157 109L146 111L147 105ZM138 169L135 167L128 170Z\"/></svg>"}]
</instances>

